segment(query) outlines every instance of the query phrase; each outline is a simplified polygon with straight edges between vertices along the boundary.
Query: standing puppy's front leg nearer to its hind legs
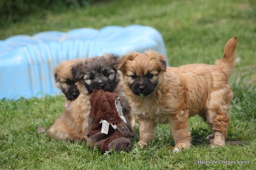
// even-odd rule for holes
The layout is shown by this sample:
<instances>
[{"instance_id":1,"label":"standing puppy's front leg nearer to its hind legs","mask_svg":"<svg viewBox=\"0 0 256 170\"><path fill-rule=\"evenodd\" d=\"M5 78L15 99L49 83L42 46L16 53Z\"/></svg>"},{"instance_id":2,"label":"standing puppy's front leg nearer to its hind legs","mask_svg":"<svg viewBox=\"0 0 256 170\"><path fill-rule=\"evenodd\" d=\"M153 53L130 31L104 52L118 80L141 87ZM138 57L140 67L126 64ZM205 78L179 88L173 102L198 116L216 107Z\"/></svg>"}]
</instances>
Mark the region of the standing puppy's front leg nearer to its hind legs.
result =
<instances>
[{"instance_id":1,"label":"standing puppy's front leg nearer to its hind legs","mask_svg":"<svg viewBox=\"0 0 256 170\"><path fill-rule=\"evenodd\" d=\"M175 143L173 151L191 146L191 136L188 131L188 110L182 110L179 114L169 119L172 137Z\"/></svg>"}]
</instances>

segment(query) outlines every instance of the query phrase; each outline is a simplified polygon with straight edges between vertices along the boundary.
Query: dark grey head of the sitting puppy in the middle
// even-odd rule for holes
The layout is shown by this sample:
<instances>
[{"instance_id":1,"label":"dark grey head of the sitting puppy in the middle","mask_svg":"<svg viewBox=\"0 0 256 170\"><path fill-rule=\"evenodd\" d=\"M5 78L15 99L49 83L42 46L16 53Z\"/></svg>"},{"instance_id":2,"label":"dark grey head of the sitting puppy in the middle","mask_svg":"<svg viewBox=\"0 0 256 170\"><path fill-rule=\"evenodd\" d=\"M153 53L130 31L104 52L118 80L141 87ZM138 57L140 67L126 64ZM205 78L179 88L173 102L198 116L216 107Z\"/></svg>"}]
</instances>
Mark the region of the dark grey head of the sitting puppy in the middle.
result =
<instances>
[{"instance_id":1,"label":"dark grey head of the sitting puppy in the middle","mask_svg":"<svg viewBox=\"0 0 256 170\"><path fill-rule=\"evenodd\" d=\"M119 81L115 61L118 56L104 55L93 57L72 68L77 85L85 93L91 94L94 89L113 92Z\"/></svg>"}]
</instances>

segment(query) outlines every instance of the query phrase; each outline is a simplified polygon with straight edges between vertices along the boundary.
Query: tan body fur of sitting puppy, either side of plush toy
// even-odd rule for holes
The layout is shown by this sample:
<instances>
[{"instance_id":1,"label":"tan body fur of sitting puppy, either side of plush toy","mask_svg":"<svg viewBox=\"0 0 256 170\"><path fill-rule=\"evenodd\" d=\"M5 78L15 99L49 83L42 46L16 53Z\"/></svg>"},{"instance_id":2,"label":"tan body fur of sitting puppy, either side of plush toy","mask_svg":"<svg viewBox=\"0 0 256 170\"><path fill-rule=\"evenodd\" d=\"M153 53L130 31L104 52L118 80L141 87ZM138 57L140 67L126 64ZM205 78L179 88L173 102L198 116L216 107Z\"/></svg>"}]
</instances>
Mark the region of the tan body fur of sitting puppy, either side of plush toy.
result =
<instances>
[{"instance_id":1,"label":"tan body fur of sitting puppy, either side of plush toy","mask_svg":"<svg viewBox=\"0 0 256 170\"><path fill-rule=\"evenodd\" d=\"M118 73L117 76L119 79ZM82 82L78 81L76 82L76 85L80 91L80 95L68 106L68 108L62 112L60 117L55 120L54 124L49 128L47 132L49 136L57 140L77 140L78 142L82 142L83 140L87 139L85 132L88 127L88 116L91 109L89 102L90 94L87 94L88 91ZM125 114L125 110L130 112L131 107L128 103L127 96L124 95L122 86L122 82L119 82L114 90L114 93L117 93L117 95L120 97L120 101L123 103ZM128 122L133 121L132 117L130 117L130 115L126 115L126 120L127 126L131 126L128 124Z\"/></svg>"}]
</instances>

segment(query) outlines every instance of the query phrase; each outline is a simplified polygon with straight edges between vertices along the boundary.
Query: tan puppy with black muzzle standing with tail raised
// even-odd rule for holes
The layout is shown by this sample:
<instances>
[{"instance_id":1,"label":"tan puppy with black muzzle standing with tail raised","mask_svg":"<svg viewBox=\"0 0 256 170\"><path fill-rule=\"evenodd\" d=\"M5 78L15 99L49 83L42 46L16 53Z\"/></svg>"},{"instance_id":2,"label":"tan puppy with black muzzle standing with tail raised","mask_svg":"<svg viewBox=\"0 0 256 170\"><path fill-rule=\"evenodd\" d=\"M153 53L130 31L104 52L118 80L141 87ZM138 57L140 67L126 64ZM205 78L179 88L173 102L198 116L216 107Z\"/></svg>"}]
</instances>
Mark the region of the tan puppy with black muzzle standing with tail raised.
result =
<instances>
[{"instance_id":1,"label":"tan puppy with black muzzle standing with tail raised","mask_svg":"<svg viewBox=\"0 0 256 170\"><path fill-rule=\"evenodd\" d=\"M215 65L166 67L164 56L150 50L118 59L125 94L140 125L138 145L147 145L154 138L157 123L169 123L174 151L188 148L188 117L199 114L212 130L210 145L224 146L229 123L227 110L233 99L228 78L235 51L236 37L227 42L223 58Z\"/></svg>"}]
</instances>

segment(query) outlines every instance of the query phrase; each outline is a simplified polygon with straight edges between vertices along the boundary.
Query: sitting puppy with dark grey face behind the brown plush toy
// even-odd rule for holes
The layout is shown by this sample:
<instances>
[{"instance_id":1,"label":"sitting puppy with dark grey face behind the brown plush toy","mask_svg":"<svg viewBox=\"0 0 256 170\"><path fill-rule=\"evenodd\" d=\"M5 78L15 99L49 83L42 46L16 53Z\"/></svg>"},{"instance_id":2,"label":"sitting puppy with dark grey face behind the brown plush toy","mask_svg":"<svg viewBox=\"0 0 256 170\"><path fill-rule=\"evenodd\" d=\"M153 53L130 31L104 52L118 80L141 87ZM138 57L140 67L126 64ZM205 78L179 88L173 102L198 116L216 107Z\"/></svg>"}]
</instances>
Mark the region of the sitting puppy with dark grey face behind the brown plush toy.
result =
<instances>
[{"instance_id":1,"label":"sitting puppy with dark grey face behind the brown plush toy","mask_svg":"<svg viewBox=\"0 0 256 170\"><path fill-rule=\"evenodd\" d=\"M117 56L105 54L102 57L93 57L76 62L71 73L73 79L77 81L76 85L80 95L55 120L48 130L49 136L60 140L77 140L78 142L87 138L85 132L91 109L89 99L94 89L103 89L118 94L123 103L127 127L132 131L133 126L130 125L131 107L124 95L123 84L119 82L119 75L116 70L117 58Z\"/></svg>"}]
</instances>

